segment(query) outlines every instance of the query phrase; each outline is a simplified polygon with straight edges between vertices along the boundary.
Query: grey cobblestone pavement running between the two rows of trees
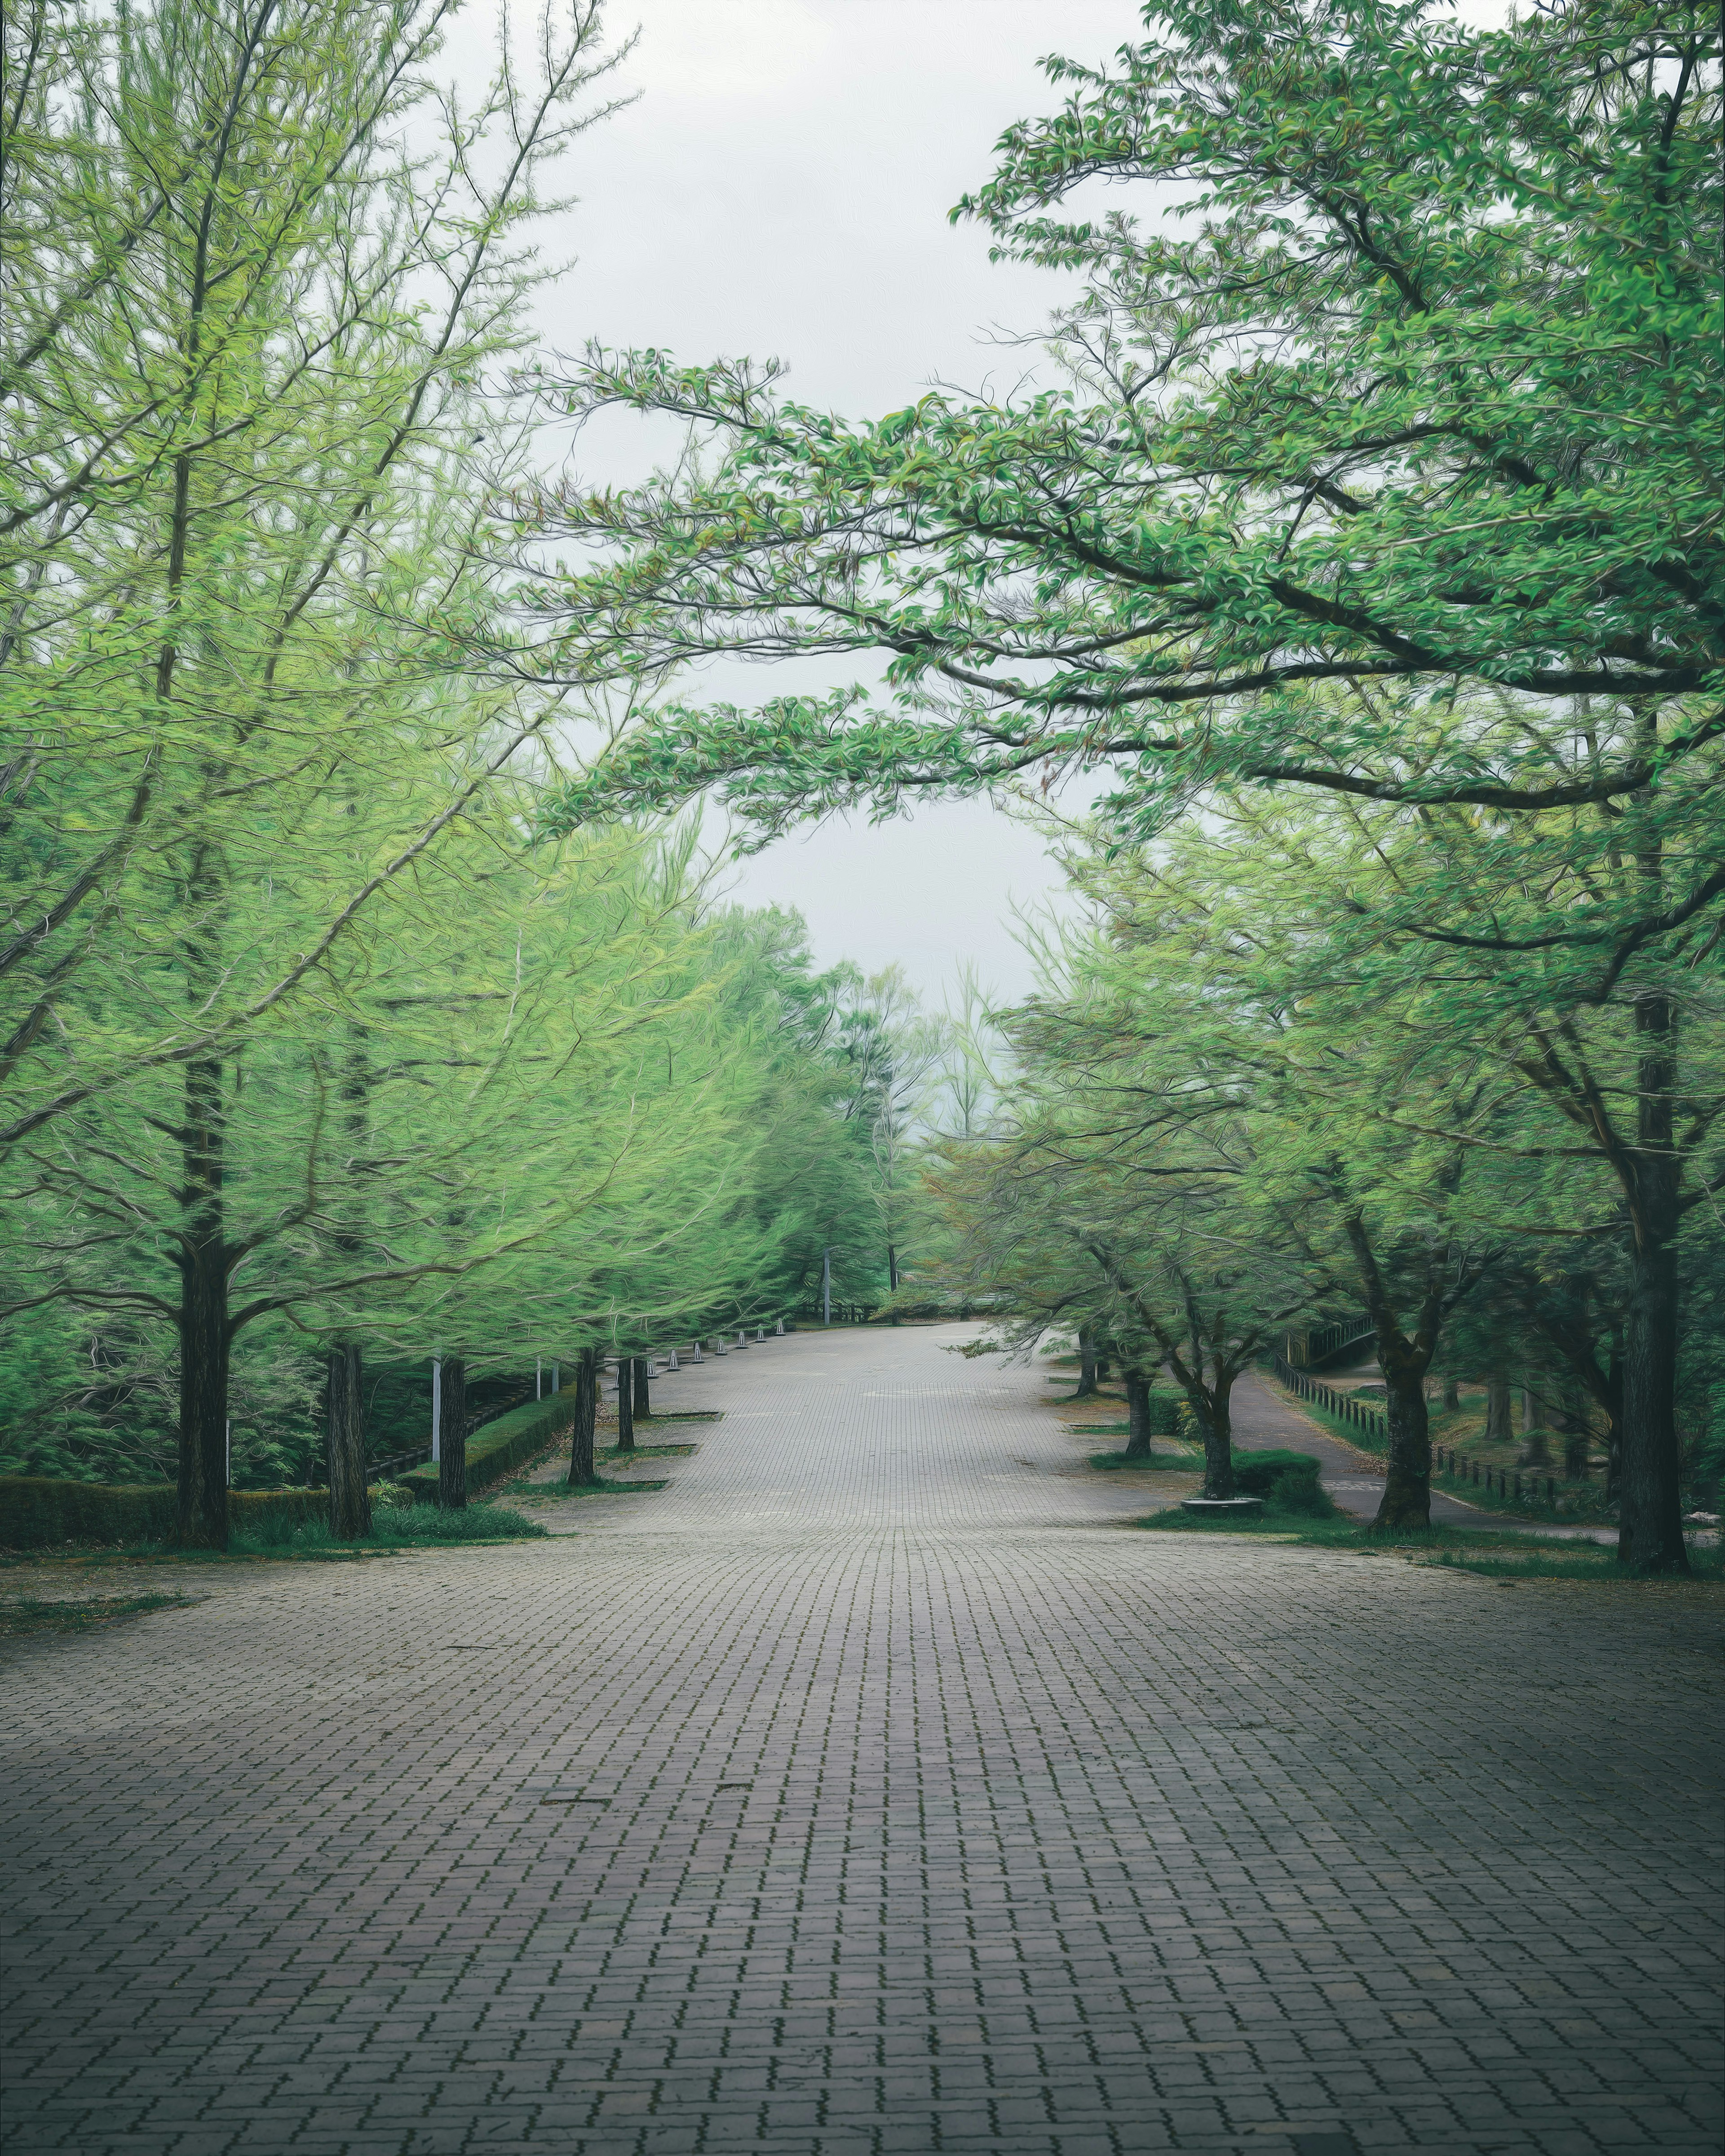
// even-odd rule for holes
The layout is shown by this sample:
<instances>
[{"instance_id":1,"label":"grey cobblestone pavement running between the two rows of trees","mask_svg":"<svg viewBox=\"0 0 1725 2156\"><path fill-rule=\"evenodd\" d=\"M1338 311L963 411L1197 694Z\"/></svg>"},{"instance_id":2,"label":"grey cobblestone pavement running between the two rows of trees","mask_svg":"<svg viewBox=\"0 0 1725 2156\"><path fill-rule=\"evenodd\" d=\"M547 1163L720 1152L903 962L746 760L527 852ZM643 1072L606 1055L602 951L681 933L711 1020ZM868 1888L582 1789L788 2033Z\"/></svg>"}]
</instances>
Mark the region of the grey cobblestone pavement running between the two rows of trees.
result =
<instances>
[{"instance_id":1,"label":"grey cobblestone pavement running between the two rows of trees","mask_svg":"<svg viewBox=\"0 0 1725 2156\"><path fill-rule=\"evenodd\" d=\"M1712 2156L1706 1598L1134 1533L957 1337L11 1649L11 2156Z\"/></svg>"}]
</instances>

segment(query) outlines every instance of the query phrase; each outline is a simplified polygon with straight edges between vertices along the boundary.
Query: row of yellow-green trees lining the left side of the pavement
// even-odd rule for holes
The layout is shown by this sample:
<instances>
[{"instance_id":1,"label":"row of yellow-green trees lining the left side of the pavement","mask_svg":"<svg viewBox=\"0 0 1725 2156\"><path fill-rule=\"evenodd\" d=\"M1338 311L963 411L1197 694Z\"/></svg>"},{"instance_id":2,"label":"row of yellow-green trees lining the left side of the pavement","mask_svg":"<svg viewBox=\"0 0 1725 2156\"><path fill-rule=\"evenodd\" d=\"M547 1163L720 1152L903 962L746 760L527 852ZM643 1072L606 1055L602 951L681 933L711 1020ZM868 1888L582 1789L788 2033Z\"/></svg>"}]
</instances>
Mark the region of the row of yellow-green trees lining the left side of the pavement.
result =
<instances>
[{"instance_id":1,"label":"row of yellow-green trees lining the left side of the pavement","mask_svg":"<svg viewBox=\"0 0 1725 2156\"><path fill-rule=\"evenodd\" d=\"M610 56L574 0L457 95L446 19L6 15L11 1460L160 1473L172 1395L188 1544L235 1358L358 1531L373 1354L459 1391L770 1313L867 1205L800 925L714 914L690 832L541 834L580 699L477 671Z\"/></svg>"}]
</instances>

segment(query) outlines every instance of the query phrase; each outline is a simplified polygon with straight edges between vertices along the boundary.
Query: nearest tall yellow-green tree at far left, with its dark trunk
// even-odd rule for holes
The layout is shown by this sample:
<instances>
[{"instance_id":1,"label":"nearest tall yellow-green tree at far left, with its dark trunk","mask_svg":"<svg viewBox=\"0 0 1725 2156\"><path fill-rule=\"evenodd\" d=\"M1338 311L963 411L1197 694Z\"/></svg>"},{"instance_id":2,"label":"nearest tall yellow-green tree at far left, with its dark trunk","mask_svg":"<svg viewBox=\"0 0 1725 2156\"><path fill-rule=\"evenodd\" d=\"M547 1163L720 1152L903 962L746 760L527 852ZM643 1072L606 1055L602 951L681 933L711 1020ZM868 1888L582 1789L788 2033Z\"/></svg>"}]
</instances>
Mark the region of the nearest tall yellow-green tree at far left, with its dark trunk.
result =
<instances>
[{"instance_id":1,"label":"nearest tall yellow-green tree at far left, with its dark trunk","mask_svg":"<svg viewBox=\"0 0 1725 2156\"><path fill-rule=\"evenodd\" d=\"M556 705L451 686L448 630L489 606L477 392L597 15L459 112L446 13L9 17L0 1138L95 1117L172 1192L188 1542L224 1535L237 1089Z\"/></svg>"}]
</instances>

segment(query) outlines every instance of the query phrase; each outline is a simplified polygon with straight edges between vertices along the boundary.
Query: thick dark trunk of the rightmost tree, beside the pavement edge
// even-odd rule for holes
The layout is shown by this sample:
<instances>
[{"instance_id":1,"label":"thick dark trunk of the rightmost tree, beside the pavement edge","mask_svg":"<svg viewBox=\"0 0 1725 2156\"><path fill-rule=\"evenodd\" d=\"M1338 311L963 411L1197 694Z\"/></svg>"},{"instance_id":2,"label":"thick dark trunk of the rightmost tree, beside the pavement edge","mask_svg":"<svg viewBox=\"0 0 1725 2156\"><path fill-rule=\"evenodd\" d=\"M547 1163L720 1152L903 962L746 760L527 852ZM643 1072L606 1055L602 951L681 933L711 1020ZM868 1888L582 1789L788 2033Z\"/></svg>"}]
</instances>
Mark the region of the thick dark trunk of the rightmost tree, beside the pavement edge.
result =
<instances>
[{"instance_id":1,"label":"thick dark trunk of the rightmost tree, beside the pavement edge","mask_svg":"<svg viewBox=\"0 0 1725 2156\"><path fill-rule=\"evenodd\" d=\"M1675 1011L1637 996L1637 1158L1624 1326L1624 1522L1617 1554L1641 1572L1688 1572L1678 1447L1678 1173L1671 1145Z\"/></svg>"}]
</instances>

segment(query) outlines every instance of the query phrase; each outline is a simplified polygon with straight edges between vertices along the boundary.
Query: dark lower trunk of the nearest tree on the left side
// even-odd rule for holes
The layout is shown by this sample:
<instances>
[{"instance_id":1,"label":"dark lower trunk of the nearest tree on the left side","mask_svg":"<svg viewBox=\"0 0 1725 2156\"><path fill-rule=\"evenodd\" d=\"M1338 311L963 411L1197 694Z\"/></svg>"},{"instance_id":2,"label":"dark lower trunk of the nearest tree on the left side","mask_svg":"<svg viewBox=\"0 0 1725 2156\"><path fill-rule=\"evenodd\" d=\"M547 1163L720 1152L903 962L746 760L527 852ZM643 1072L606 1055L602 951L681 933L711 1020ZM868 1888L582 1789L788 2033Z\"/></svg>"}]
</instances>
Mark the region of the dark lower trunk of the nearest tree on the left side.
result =
<instances>
[{"instance_id":1,"label":"dark lower trunk of the nearest tree on the left side","mask_svg":"<svg viewBox=\"0 0 1725 2156\"><path fill-rule=\"evenodd\" d=\"M185 1550L229 1546L229 1248L222 1203L222 1065L185 1067L179 1246L179 1509Z\"/></svg>"}]
</instances>

